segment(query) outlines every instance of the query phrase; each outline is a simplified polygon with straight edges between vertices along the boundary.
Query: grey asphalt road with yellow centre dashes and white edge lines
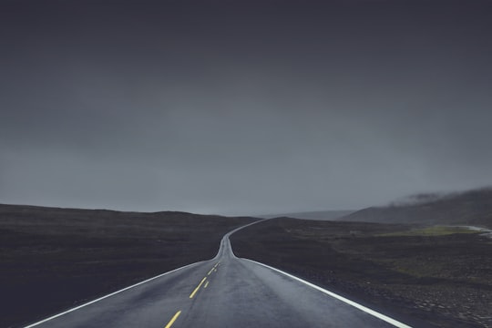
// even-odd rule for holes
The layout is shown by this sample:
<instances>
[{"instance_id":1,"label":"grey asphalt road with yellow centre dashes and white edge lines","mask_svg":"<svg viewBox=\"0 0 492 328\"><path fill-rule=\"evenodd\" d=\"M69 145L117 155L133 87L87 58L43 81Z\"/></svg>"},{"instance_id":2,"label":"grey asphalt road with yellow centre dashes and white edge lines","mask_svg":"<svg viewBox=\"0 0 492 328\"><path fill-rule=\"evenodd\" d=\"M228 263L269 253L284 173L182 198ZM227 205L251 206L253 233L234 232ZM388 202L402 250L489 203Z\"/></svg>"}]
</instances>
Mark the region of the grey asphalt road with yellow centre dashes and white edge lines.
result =
<instances>
[{"instance_id":1,"label":"grey asphalt road with yellow centre dashes and white edge lines","mask_svg":"<svg viewBox=\"0 0 492 328\"><path fill-rule=\"evenodd\" d=\"M235 257L229 236L239 229L223 237L210 261L161 274L26 328L409 327L285 272Z\"/></svg>"}]
</instances>

